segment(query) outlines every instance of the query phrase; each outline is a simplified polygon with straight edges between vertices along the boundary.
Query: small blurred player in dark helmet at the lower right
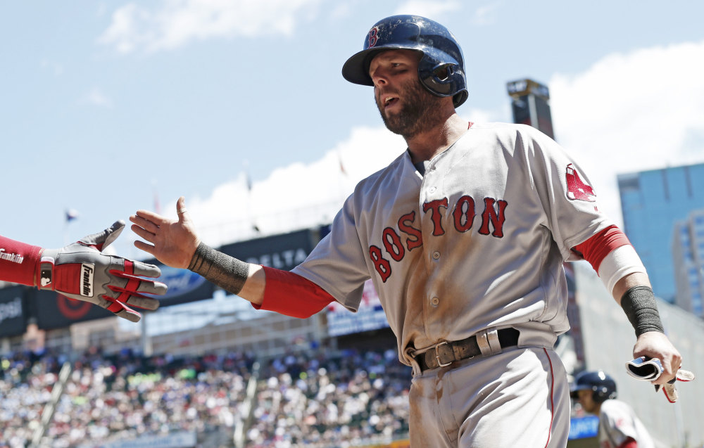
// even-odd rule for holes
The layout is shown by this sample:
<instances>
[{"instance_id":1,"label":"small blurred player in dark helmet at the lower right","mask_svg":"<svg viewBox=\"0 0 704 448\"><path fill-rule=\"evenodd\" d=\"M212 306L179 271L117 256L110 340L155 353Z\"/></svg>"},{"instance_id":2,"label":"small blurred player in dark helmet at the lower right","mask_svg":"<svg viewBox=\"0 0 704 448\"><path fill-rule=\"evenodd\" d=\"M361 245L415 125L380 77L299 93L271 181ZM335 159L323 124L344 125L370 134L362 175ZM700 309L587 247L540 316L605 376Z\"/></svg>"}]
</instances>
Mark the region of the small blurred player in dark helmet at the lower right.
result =
<instances>
[{"instance_id":1,"label":"small blurred player in dark helmet at the lower right","mask_svg":"<svg viewBox=\"0 0 704 448\"><path fill-rule=\"evenodd\" d=\"M570 396L582 409L599 417L602 448L655 448L633 409L615 399L616 382L603 371L580 373L570 388Z\"/></svg>"}]
</instances>

